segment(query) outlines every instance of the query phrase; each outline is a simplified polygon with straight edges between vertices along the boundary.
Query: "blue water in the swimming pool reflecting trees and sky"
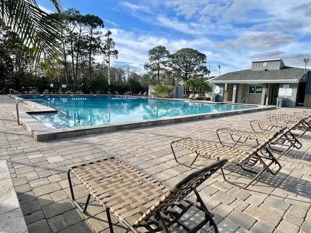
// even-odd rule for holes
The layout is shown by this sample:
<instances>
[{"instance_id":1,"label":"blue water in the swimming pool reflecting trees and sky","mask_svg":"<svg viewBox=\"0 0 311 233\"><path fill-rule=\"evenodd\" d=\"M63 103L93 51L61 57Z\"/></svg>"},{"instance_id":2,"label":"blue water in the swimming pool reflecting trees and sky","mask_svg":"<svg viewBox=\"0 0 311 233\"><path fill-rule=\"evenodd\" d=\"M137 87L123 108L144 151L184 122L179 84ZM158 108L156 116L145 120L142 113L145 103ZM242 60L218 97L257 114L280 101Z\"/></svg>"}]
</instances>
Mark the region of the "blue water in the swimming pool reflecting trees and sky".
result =
<instances>
[{"instance_id":1,"label":"blue water in the swimming pool reflecting trees and sky","mask_svg":"<svg viewBox=\"0 0 311 233\"><path fill-rule=\"evenodd\" d=\"M105 96L30 96L23 99L43 99L61 110L61 114L36 114L37 120L51 128L111 124L129 121L147 121L176 116L208 114L256 108L233 104L211 104L201 102L156 100L116 95ZM39 102L46 105L43 101Z\"/></svg>"}]
</instances>

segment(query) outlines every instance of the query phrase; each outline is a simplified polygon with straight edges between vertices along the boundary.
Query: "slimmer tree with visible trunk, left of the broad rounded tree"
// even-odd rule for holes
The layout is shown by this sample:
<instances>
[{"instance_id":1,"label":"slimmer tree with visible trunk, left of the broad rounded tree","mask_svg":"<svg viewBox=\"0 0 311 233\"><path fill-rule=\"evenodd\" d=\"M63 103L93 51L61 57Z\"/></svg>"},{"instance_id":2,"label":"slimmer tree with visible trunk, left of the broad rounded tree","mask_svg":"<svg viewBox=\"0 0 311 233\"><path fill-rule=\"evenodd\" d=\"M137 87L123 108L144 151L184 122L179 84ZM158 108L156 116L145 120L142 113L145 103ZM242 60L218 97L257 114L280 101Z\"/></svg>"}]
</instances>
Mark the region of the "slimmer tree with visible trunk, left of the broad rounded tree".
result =
<instances>
[{"instance_id":1,"label":"slimmer tree with visible trunk, left of the broad rounded tree","mask_svg":"<svg viewBox=\"0 0 311 233\"><path fill-rule=\"evenodd\" d=\"M157 83L160 83L160 74L165 70L166 60L170 52L164 46L156 46L149 50L149 62L145 63L144 68L156 74Z\"/></svg>"}]
</instances>

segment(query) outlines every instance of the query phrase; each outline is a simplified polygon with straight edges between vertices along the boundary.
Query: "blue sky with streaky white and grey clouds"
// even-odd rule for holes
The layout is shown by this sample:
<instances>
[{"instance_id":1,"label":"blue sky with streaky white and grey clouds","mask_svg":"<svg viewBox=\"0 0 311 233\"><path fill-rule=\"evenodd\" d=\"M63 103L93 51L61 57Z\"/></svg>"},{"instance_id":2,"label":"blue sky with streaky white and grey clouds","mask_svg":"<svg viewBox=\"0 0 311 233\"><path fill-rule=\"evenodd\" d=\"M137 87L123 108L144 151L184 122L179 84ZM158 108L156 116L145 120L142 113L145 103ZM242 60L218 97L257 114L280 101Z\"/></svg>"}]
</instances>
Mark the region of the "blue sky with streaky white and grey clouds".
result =
<instances>
[{"instance_id":1,"label":"blue sky with streaky white and grey clouds","mask_svg":"<svg viewBox=\"0 0 311 233\"><path fill-rule=\"evenodd\" d=\"M49 1L38 2L55 11ZM304 67L303 59L311 58L311 0L61 2L101 17L119 50L113 65L129 64L139 73L157 45L172 53L187 47L205 53L211 75L218 75L218 65L223 74L249 68L256 59L282 57L287 66Z\"/></svg>"}]
</instances>

